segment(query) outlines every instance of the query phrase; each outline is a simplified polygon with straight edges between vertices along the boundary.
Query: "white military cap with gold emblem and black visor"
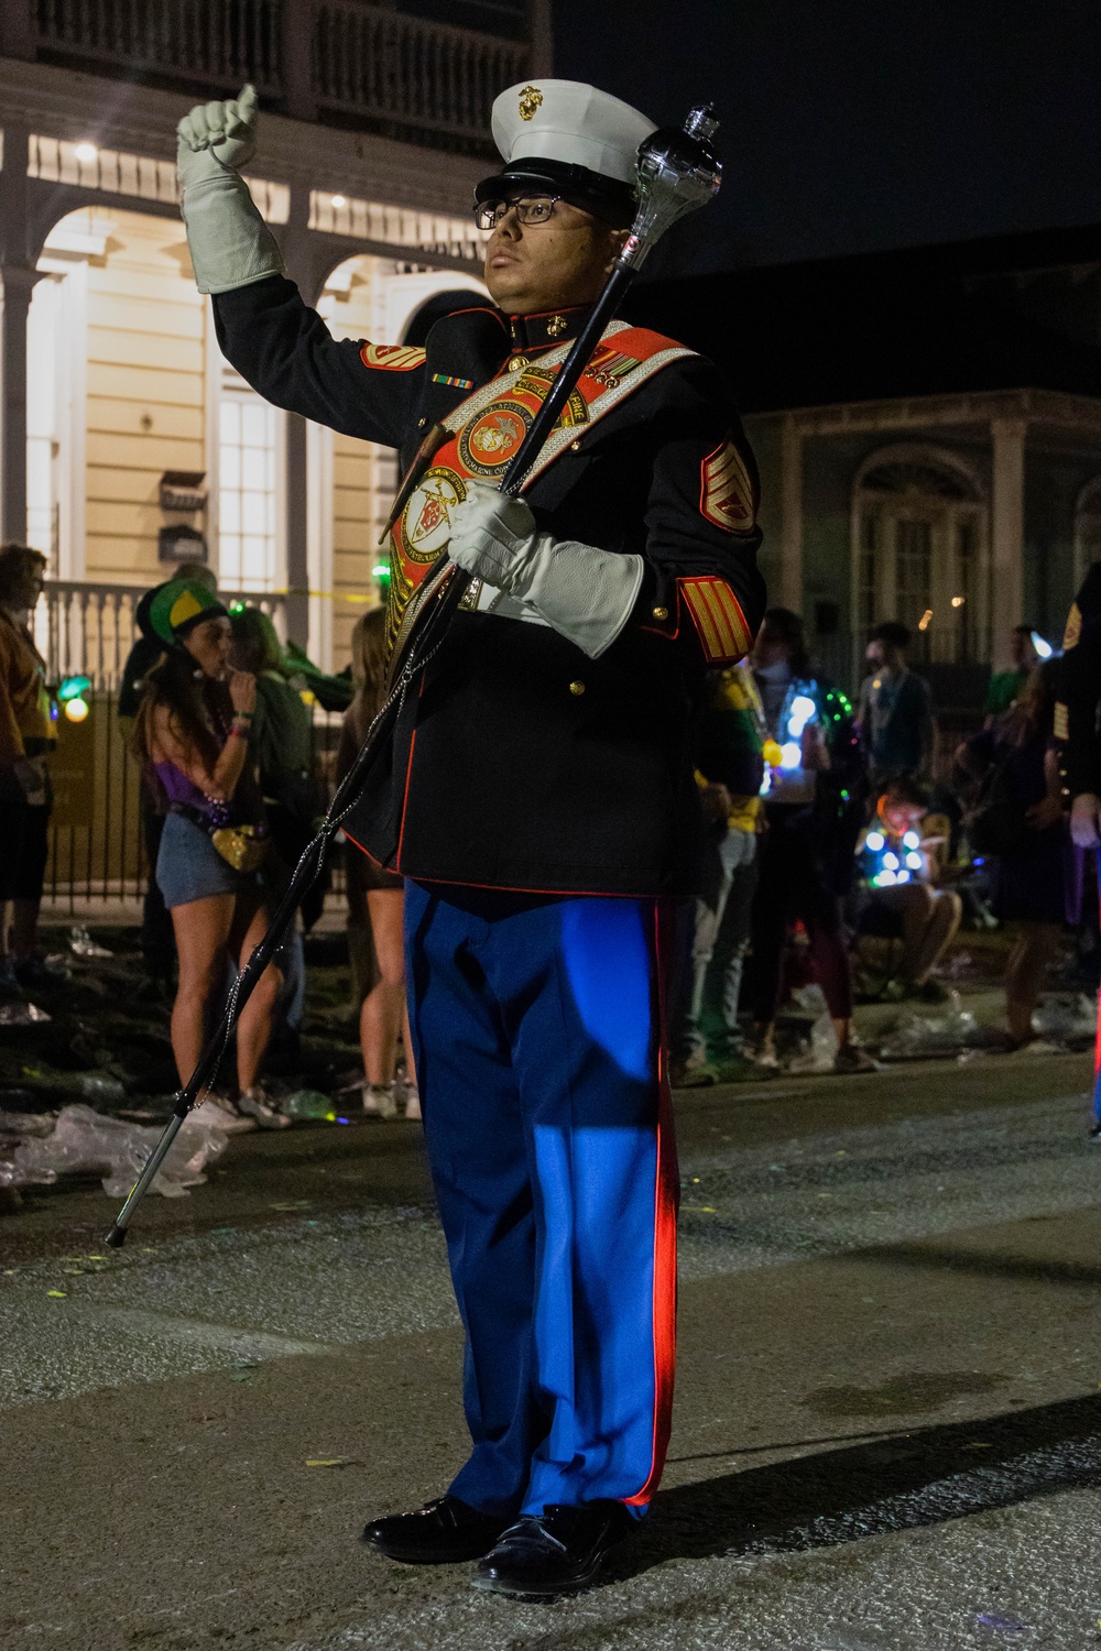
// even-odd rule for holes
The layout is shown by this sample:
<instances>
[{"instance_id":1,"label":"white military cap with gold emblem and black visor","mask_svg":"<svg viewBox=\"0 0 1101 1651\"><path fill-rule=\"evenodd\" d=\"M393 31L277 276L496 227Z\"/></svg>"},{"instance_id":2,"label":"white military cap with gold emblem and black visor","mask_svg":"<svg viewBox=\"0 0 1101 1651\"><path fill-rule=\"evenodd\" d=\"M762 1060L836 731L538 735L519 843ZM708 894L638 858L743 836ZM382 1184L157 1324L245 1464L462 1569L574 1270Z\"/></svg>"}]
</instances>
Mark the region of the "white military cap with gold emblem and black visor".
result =
<instances>
[{"instance_id":1,"label":"white military cap with gold emblem and black visor","mask_svg":"<svg viewBox=\"0 0 1101 1651\"><path fill-rule=\"evenodd\" d=\"M629 205L639 144L654 130L631 104L583 81L520 81L494 101L494 142L505 167L479 183L475 198L533 182L581 205Z\"/></svg>"}]
</instances>

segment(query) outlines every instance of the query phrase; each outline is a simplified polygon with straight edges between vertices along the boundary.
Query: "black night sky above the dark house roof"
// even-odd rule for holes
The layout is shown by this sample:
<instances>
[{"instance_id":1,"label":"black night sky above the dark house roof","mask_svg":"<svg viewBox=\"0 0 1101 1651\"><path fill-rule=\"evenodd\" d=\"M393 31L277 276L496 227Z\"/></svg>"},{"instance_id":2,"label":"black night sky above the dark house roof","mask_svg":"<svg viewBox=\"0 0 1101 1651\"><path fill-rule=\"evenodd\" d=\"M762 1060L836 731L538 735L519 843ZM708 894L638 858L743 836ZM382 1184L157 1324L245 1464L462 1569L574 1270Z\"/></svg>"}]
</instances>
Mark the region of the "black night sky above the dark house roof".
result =
<instances>
[{"instance_id":1,"label":"black night sky above the dark house roof","mask_svg":"<svg viewBox=\"0 0 1101 1651\"><path fill-rule=\"evenodd\" d=\"M1101 221L1101 0L555 0L555 73L718 106L669 272Z\"/></svg>"}]
</instances>

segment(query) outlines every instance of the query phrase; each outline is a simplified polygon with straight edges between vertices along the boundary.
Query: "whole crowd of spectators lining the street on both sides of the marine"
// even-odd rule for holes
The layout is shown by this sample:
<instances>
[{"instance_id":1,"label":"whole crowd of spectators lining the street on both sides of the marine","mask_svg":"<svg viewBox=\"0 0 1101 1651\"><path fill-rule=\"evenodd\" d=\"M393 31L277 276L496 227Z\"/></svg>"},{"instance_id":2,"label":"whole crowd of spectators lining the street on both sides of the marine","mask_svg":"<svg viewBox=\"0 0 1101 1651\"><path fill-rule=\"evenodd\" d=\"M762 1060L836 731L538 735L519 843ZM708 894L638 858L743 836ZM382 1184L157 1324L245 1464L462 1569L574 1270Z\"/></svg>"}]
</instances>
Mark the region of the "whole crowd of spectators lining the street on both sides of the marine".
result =
<instances>
[{"instance_id":1,"label":"whole crowd of spectators lining the street on both sides of the marine","mask_svg":"<svg viewBox=\"0 0 1101 1651\"><path fill-rule=\"evenodd\" d=\"M58 979L36 946L54 745L30 624L43 566L23 546L0 551L0 999ZM259 606L223 603L203 565L149 591L137 624L117 715L142 766L142 994L170 1004L183 1081L378 713L385 619L381 609L360 617L343 679L281 642ZM855 999L943 1001L938 964L966 918L1010 926L1005 1038L1035 1040L1043 981L1083 890L1055 756L1060 660L1042 660L1032 627L1017 627L1012 667L990 677L974 731L952 751L944 738L938 750L933 695L910 647L903 624L878 624L850 700L809 657L799 614L771 608L751 655L710 679L697 746L706 850L673 971L673 1081L776 1070L784 1005L807 986L820 992L834 1068L872 1067L853 1032ZM343 712L328 764L319 702ZM355 1088L368 1114L418 1118L403 882L353 847L343 882L363 1058ZM218 1128L289 1123L264 1073L294 1062L304 933L324 900L319 883L241 1015L236 1070L201 1103Z\"/></svg>"}]
</instances>

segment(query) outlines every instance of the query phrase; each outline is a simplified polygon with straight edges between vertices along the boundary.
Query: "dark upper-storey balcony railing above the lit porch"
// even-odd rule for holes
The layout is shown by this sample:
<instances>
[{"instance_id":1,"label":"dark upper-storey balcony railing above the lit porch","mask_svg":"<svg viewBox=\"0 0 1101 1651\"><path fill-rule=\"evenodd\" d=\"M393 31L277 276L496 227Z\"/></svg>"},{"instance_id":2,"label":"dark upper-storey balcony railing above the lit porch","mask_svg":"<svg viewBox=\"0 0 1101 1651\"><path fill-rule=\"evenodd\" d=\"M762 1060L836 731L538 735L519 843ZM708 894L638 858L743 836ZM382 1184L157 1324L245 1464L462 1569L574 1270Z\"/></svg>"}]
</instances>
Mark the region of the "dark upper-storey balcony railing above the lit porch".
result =
<instances>
[{"instance_id":1,"label":"dark upper-storey balcony railing above the lit porch","mask_svg":"<svg viewBox=\"0 0 1101 1651\"><path fill-rule=\"evenodd\" d=\"M8 54L99 74L261 96L300 119L441 149L489 144L497 92L530 73L527 41L371 0L2 0Z\"/></svg>"}]
</instances>

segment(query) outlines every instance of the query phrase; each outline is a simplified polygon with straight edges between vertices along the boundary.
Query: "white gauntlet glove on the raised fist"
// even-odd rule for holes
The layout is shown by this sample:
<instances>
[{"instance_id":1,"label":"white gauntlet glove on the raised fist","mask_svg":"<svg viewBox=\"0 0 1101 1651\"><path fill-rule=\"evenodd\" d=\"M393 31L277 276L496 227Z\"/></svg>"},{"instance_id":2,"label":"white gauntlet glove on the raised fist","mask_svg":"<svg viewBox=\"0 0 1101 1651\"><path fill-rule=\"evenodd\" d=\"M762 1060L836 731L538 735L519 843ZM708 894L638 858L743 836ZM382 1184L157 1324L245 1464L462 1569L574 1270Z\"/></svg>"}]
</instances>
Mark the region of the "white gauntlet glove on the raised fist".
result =
<instances>
[{"instance_id":1,"label":"white gauntlet glove on the raised fist","mask_svg":"<svg viewBox=\"0 0 1101 1651\"><path fill-rule=\"evenodd\" d=\"M282 274L276 238L239 173L256 154L256 91L195 104L177 125L180 211L200 292L231 292Z\"/></svg>"}]
</instances>

